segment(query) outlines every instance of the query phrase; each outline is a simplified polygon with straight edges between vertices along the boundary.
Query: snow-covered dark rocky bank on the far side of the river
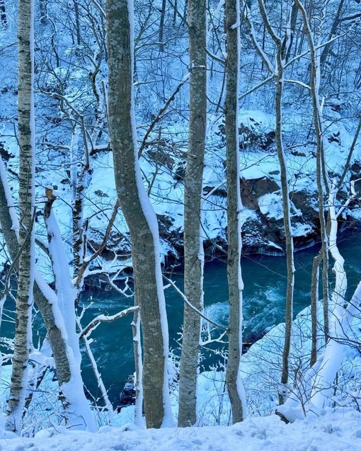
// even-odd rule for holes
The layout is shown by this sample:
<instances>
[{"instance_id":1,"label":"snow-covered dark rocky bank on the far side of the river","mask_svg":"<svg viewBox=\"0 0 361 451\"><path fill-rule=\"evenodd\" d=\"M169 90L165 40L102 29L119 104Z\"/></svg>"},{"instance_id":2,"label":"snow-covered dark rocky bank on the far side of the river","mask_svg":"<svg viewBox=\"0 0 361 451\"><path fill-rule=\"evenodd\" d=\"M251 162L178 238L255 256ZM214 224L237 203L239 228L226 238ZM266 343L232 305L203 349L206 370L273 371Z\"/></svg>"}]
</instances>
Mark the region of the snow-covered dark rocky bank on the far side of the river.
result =
<instances>
[{"instance_id":1,"label":"snow-covered dark rocky bank on the far side of the river","mask_svg":"<svg viewBox=\"0 0 361 451\"><path fill-rule=\"evenodd\" d=\"M311 139L309 124L308 127L304 125L308 123L305 108L303 105L297 108L293 107L290 111L285 109L287 120L284 132L292 232L296 251L312 246L320 239L314 142ZM337 181L348 159L357 122L347 118L343 120L340 113L326 107L324 117L327 125L324 141L328 172L330 178ZM261 110L241 110L239 124L243 253L283 255L285 236L280 169L273 134L275 118L273 114ZM187 122L169 121L168 132L167 139L145 147L140 159L144 185L159 219L161 256L165 268L182 264L183 177ZM18 146L10 123L0 124L0 135L0 153L6 164L12 193L16 198ZM38 156L39 159L43 157L47 155L40 153ZM62 235L71 236L69 222L71 183L66 164L67 156L53 152L52 158L59 169L53 171L52 166L47 167L44 164L42 170L36 173L36 189L38 197L41 198L43 185L57 185L58 200L54 205L55 214ZM84 194L86 197L84 218L88 218L86 221L88 253L101 245L115 203L111 149L105 147L96 152L93 155L92 166L91 181ZM202 202L202 238L207 259L226 258L226 171L224 128L221 123L211 127L207 137ZM354 181L356 196L348 202L348 207L338 217L342 231L361 227L361 152L358 144L350 161L345 183L341 186L336 199L338 208L344 205L350 196L351 181ZM38 210L35 227L38 236L46 241L43 236L41 207ZM71 259L69 248L70 262ZM38 264L45 268L47 261L40 257ZM6 254L0 256L0 265L1 268L6 265ZM92 262L91 269L96 270L97 274L89 277L89 282L97 286L103 283L102 280L107 282L107 277L98 273L109 272L118 275L132 273L131 243L122 212L118 212L105 249L101 256Z\"/></svg>"}]
</instances>

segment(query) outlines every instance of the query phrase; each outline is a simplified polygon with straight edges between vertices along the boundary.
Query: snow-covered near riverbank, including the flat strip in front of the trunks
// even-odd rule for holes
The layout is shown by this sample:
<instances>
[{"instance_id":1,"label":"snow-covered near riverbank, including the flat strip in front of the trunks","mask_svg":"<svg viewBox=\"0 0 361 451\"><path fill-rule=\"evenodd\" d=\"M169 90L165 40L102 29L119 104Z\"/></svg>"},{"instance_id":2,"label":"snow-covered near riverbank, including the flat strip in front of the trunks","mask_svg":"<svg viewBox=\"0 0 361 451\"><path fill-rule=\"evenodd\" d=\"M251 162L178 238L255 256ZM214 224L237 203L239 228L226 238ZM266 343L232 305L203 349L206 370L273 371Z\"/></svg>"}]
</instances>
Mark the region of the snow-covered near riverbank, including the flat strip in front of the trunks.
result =
<instances>
[{"instance_id":1,"label":"snow-covered near riverbank, including the flat strip in front of the trunks","mask_svg":"<svg viewBox=\"0 0 361 451\"><path fill-rule=\"evenodd\" d=\"M321 316L321 311L319 312ZM302 378L309 367L311 318L309 308L304 309L293 323L291 373L302 396ZM197 411L198 427L144 430L132 424L134 406L108 416L106 412L96 417L98 433L71 431L62 424L62 412L57 396L57 383L52 372L38 387L25 416L23 435L18 438L4 431L4 411L8 396L10 366L3 367L0 390L0 451L91 451L97 448L110 450L147 451L155 446L161 450L361 450L360 375L361 355L355 346L345 347L343 362L338 371L338 385L326 409L316 409L307 401L297 406L294 416L302 418L286 425L275 415L277 388L280 380L280 359L284 324L273 327L243 355L241 375L248 399L248 418L236 426L230 424L230 408L225 392L222 363L212 371L198 376ZM320 330L320 335L322 331ZM360 320L355 319L350 339L360 342ZM222 360L222 359L221 359ZM169 368L171 370L171 367ZM293 376L292 376L293 377ZM292 381L293 382L293 381ZM301 388L300 388L301 387ZM173 382L171 404L174 423L177 416L177 384ZM95 412L95 411L94 411ZM112 426L108 426L108 424ZM102 426L105 425L105 426ZM212 427L210 427L212 426ZM35 435L31 438L31 435Z\"/></svg>"}]
</instances>

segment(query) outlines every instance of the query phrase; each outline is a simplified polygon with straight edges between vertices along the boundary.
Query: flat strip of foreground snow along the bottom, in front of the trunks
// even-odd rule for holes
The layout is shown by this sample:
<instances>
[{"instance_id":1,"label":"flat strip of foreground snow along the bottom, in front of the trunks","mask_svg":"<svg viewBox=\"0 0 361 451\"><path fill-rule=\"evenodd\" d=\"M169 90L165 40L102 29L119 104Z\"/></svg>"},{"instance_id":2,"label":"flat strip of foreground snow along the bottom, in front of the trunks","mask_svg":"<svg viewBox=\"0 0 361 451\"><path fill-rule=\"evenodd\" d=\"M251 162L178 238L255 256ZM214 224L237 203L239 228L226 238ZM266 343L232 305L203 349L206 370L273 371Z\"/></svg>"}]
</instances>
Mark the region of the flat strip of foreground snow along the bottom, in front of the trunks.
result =
<instances>
[{"instance_id":1,"label":"flat strip of foreground snow along the bottom, in front of the trunks","mask_svg":"<svg viewBox=\"0 0 361 451\"><path fill-rule=\"evenodd\" d=\"M1 440L1 451L357 451L361 413L323 411L286 425L275 415L248 418L235 426L162 430L101 428L98 433L42 430L35 438Z\"/></svg>"}]
</instances>

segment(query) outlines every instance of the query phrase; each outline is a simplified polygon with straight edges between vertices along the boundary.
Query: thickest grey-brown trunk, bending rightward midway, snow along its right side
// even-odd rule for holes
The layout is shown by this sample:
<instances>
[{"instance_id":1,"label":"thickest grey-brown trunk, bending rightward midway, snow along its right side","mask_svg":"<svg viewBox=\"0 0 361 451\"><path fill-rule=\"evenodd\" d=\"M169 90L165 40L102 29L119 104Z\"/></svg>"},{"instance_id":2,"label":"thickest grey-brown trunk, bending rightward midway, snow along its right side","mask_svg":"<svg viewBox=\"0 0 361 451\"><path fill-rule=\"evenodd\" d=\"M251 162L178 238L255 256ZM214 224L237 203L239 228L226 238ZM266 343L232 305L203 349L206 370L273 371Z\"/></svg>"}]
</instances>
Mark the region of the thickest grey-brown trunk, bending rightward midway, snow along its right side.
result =
<instances>
[{"instance_id":1,"label":"thickest grey-brown trunk, bending rightward midway, snow along its right side","mask_svg":"<svg viewBox=\"0 0 361 451\"><path fill-rule=\"evenodd\" d=\"M107 0L108 115L115 183L132 239L134 292L142 321L143 394L147 428L173 426L166 361L168 329L156 215L137 159L133 99L132 0ZM139 387L138 387L139 389Z\"/></svg>"}]
</instances>

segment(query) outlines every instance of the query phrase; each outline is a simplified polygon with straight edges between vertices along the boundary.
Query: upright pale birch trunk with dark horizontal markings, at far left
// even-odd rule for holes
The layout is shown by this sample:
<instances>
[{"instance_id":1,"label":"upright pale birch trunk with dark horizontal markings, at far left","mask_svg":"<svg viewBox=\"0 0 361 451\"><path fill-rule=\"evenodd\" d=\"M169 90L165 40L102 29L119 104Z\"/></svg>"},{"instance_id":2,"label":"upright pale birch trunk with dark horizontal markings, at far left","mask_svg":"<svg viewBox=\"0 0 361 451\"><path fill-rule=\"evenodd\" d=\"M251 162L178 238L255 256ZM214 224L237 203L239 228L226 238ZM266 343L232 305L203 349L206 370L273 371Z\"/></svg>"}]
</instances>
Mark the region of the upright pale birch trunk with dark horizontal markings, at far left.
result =
<instances>
[{"instance_id":1,"label":"upright pale birch trunk with dark horizontal markings, at far left","mask_svg":"<svg viewBox=\"0 0 361 451\"><path fill-rule=\"evenodd\" d=\"M18 140L20 147L19 210L20 224L16 330L8 399L6 429L21 431L28 384L28 355L31 346L31 306L33 304L33 204L35 123L33 104L33 2L18 4Z\"/></svg>"}]
</instances>

